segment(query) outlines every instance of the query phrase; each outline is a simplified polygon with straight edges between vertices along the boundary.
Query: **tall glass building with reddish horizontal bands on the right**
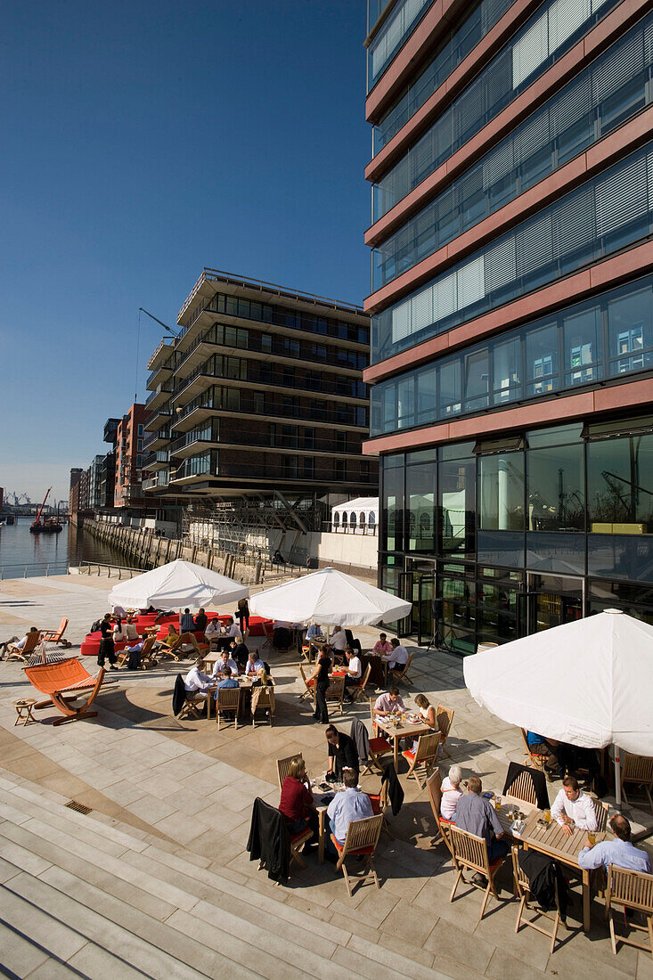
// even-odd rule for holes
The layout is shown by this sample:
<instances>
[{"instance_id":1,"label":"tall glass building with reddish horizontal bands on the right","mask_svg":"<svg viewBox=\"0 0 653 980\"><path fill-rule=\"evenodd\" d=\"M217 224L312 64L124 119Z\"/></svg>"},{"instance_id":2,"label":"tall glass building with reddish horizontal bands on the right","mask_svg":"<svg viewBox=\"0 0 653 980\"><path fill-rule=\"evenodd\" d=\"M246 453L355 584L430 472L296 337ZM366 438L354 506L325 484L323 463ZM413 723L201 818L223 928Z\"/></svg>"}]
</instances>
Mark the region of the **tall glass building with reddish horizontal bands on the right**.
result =
<instances>
[{"instance_id":1,"label":"tall glass building with reddish horizontal bands on the right","mask_svg":"<svg viewBox=\"0 0 653 980\"><path fill-rule=\"evenodd\" d=\"M653 622L653 12L369 0L379 584L461 654Z\"/></svg>"}]
</instances>

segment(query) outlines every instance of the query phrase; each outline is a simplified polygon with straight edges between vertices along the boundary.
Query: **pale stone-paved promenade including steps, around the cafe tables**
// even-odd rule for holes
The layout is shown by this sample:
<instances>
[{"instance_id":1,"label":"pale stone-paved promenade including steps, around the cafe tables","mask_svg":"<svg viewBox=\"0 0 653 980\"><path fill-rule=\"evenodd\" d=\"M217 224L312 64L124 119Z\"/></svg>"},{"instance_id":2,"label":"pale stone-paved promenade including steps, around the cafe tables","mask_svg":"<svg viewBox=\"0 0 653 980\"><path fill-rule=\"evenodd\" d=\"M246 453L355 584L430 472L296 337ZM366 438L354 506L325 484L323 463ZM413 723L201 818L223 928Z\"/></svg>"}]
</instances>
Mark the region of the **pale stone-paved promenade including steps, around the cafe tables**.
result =
<instances>
[{"instance_id":1,"label":"pale stone-paved promenade including steps, around the cafe tables","mask_svg":"<svg viewBox=\"0 0 653 980\"><path fill-rule=\"evenodd\" d=\"M0 638L54 627L66 614L74 654L113 584L92 576L0 582ZM356 632L364 646L377 636ZM472 701L457 658L409 649L411 694L456 711L453 760L500 790L508 761L522 760L519 732ZM31 689L20 662L0 664L0 958L10 975L653 978L650 956L629 948L612 955L599 903L590 934L578 931L578 889L572 929L553 956L545 937L515 935L508 866L501 902L490 901L482 922L477 892L450 904L448 853L431 848L426 792L404 776L396 839L379 844L379 890L366 886L348 899L342 876L314 857L288 887L274 886L245 851L252 801L278 803L277 758L301 751L314 775L324 771L326 742L297 698L296 658L270 661L275 725L220 733L214 721L172 716L174 679L186 667L172 662L119 673L97 718L54 728L56 712L46 710L38 724L15 727L12 702ZM366 715L361 705L332 720L348 731L352 717ZM378 783L363 779L371 792ZM71 801L90 812L68 809Z\"/></svg>"}]
</instances>

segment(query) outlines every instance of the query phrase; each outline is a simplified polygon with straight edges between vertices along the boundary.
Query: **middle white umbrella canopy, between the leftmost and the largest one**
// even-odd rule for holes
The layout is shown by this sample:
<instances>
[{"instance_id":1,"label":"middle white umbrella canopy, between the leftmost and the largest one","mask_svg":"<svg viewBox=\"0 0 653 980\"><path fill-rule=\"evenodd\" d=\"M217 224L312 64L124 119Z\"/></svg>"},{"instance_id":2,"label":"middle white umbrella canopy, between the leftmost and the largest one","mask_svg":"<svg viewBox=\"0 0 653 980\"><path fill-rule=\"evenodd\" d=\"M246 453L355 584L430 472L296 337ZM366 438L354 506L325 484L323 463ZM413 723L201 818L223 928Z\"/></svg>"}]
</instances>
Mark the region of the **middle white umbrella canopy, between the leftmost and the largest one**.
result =
<instances>
[{"instance_id":1,"label":"middle white umbrella canopy, between the leftmost and the largest one","mask_svg":"<svg viewBox=\"0 0 653 980\"><path fill-rule=\"evenodd\" d=\"M249 603L257 615L323 626L372 626L401 619L411 604L335 568L321 568L276 585Z\"/></svg>"}]
</instances>

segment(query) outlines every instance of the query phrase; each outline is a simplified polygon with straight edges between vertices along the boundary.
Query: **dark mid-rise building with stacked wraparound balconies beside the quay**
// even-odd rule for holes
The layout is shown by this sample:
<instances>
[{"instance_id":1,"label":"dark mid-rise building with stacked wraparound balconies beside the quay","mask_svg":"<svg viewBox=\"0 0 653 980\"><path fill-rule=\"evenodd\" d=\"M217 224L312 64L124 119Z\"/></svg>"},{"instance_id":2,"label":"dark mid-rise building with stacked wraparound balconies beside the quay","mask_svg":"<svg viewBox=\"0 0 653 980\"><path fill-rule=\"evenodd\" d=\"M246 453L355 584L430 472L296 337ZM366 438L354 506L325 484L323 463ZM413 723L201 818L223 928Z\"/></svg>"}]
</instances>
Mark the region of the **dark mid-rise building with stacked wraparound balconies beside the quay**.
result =
<instances>
[{"instance_id":1,"label":"dark mid-rise building with stacked wraparound balconies beside the quay","mask_svg":"<svg viewBox=\"0 0 653 980\"><path fill-rule=\"evenodd\" d=\"M376 493L359 307L205 269L177 323L148 364L148 500Z\"/></svg>"}]
</instances>

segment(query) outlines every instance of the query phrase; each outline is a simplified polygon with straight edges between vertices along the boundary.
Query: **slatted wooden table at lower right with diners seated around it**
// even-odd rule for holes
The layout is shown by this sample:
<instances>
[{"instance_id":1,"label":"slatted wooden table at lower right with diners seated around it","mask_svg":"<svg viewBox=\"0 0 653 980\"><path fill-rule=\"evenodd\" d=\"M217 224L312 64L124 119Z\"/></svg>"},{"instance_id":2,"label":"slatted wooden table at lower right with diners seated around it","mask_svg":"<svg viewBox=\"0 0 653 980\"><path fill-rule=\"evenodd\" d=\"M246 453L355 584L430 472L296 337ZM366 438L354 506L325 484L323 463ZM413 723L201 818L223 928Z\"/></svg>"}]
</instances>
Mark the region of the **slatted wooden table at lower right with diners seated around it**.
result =
<instances>
[{"instance_id":1,"label":"slatted wooden table at lower right with diners seated around it","mask_svg":"<svg viewBox=\"0 0 653 980\"><path fill-rule=\"evenodd\" d=\"M519 807L522 812L522 819L526 823L523 833L517 835L512 832L512 820L508 816L509 810ZM529 848L531 851L538 851L540 854L555 858L569 867L573 867L582 879L582 928L584 932L589 932L590 903L591 894L589 890L589 871L581 868L578 864L578 854L587 843L587 831L574 829L574 832L567 836L562 825L557 820L551 818L551 823L545 824L539 821L544 819L544 811L525 803L523 800L516 800L511 796L501 797L501 808L497 810L497 816L505 832L514 837L515 840ZM601 831L595 831L596 843L606 840L609 835Z\"/></svg>"}]
</instances>

